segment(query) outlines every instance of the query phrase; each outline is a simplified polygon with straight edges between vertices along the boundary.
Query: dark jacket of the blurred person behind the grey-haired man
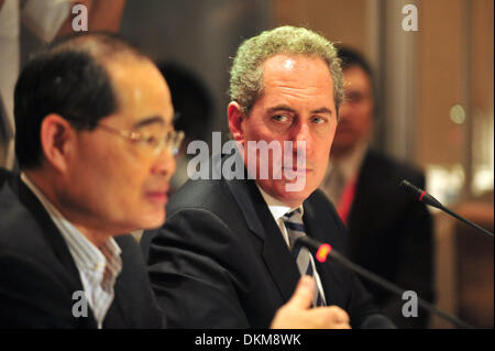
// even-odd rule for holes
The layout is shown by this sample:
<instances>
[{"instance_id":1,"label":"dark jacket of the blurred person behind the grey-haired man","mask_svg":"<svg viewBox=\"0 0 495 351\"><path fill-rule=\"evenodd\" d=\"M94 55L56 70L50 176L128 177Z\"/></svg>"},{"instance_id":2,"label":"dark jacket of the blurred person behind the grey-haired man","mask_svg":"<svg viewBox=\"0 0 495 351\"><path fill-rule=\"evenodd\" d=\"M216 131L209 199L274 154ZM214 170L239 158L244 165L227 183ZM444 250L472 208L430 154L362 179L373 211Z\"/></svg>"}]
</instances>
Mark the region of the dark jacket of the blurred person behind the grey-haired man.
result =
<instances>
[{"instance_id":1,"label":"dark jacket of the blurred person behind the grey-haired man","mask_svg":"<svg viewBox=\"0 0 495 351\"><path fill-rule=\"evenodd\" d=\"M348 218L350 256L358 264L419 297L433 299L433 235L425 205L399 188L403 179L425 187L410 166L369 151L363 160ZM365 282L384 314L398 327L427 327L428 314L404 318L400 297Z\"/></svg>"}]
</instances>

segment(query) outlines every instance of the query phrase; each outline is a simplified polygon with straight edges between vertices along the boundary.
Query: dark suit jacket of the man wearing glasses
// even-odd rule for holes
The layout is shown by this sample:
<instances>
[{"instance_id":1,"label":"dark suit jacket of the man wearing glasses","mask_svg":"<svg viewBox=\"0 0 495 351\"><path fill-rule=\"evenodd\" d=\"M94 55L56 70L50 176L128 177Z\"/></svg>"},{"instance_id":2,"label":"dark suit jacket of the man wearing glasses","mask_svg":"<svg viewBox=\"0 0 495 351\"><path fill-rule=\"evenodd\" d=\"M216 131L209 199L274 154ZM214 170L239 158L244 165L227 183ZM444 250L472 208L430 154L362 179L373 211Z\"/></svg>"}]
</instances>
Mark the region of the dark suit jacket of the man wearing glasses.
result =
<instances>
[{"instance_id":1,"label":"dark suit jacket of the man wearing glasses","mask_svg":"<svg viewBox=\"0 0 495 351\"><path fill-rule=\"evenodd\" d=\"M140 246L118 237L122 271L103 328L164 326ZM97 328L75 318L74 292L82 290L76 264L61 232L19 176L0 172L0 328Z\"/></svg>"}]
</instances>

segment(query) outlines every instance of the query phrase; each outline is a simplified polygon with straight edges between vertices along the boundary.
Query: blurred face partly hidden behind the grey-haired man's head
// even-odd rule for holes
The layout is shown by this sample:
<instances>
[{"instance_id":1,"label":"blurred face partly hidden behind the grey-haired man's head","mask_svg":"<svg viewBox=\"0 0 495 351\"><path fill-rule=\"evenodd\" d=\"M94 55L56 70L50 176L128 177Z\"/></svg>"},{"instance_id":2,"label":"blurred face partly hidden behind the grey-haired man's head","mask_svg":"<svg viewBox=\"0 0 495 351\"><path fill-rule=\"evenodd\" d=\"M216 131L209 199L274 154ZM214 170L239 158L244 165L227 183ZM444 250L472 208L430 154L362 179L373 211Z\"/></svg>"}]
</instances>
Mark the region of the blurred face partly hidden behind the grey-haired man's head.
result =
<instances>
[{"instance_id":1,"label":"blurred face partly hidden behind the grey-haired man's head","mask_svg":"<svg viewBox=\"0 0 495 351\"><path fill-rule=\"evenodd\" d=\"M369 75L359 66L343 70L345 101L339 110L339 123L331 156L339 157L354 150L371 136L373 127L373 92Z\"/></svg>"}]
</instances>

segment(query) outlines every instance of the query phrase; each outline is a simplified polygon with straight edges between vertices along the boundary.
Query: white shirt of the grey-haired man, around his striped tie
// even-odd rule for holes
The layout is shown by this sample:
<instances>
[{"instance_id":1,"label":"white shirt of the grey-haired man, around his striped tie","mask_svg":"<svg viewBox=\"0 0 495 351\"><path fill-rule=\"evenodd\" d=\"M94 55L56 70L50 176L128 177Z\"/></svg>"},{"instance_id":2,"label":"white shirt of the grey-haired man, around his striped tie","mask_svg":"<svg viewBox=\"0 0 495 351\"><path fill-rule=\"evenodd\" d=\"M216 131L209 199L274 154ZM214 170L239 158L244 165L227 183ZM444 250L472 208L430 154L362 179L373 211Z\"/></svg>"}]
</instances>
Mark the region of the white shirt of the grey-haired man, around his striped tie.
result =
<instances>
[{"instance_id":1,"label":"white shirt of the grey-haired man, around his striped tie","mask_svg":"<svg viewBox=\"0 0 495 351\"><path fill-rule=\"evenodd\" d=\"M262 187L256 183L256 186L263 197L263 199L265 200L266 205L268 206L270 212L272 213L275 222L277 223L278 228L280 229L282 235L284 237L285 243L287 244L288 248L290 248L290 243L289 243L289 238L288 238L288 233L287 233L287 228L285 227L285 222L284 222L284 215L286 215L287 212L295 210L295 209L299 209L301 216L305 215L305 210L302 205L299 205L298 207L295 208L290 208L287 205L284 205L283 202L280 202L279 200L277 200L276 198L270 196L268 194L266 194ZM320 279L320 275L318 274L318 271L316 270L316 264L315 264L315 259L312 257L312 255L309 255L309 260L311 261L312 267L314 267L314 278L317 283L317 287L320 290L320 296L323 299L323 301L327 304L326 301L326 297L324 297L324 290L323 290L323 286L321 284L321 279Z\"/></svg>"}]
</instances>

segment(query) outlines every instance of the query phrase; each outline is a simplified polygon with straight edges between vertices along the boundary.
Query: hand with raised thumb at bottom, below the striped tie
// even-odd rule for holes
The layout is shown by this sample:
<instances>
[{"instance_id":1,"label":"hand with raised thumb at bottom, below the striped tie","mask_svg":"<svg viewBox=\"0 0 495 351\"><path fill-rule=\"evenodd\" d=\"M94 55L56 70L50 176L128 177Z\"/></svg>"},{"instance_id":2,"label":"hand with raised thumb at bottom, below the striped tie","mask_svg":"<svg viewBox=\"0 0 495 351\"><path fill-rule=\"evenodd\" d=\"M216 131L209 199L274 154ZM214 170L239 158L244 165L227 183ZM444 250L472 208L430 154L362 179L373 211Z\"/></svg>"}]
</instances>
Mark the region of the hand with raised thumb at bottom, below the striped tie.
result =
<instances>
[{"instance_id":1,"label":"hand with raised thumb at bottom, below the striped tie","mask_svg":"<svg viewBox=\"0 0 495 351\"><path fill-rule=\"evenodd\" d=\"M282 306L272 321L272 329L351 329L349 315L338 306L310 308L316 283L304 276L290 300Z\"/></svg>"}]
</instances>

